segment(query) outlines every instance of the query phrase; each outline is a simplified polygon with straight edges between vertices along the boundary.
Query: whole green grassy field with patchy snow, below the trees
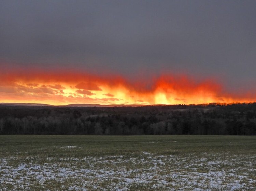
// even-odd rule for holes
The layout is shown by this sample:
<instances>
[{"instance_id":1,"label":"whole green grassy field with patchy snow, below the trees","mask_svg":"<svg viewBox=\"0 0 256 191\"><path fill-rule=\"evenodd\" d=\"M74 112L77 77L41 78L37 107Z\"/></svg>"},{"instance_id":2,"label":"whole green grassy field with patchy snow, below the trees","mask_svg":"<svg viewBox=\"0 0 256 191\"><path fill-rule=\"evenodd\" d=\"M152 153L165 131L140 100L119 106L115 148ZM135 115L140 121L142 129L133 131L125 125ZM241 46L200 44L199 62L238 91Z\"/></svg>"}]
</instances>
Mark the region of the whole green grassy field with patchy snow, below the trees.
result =
<instances>
[{"instance_id":1,"label":"whole green grassy field with patchy snow, below the trees","mask_svg":"<svg viewBox=\"0 0 256 191\"><path fill-rule=\"evenodd\" d=\"M256 136L0 135L0 190L255 190Z\"/></svg>"}]
</instances>

